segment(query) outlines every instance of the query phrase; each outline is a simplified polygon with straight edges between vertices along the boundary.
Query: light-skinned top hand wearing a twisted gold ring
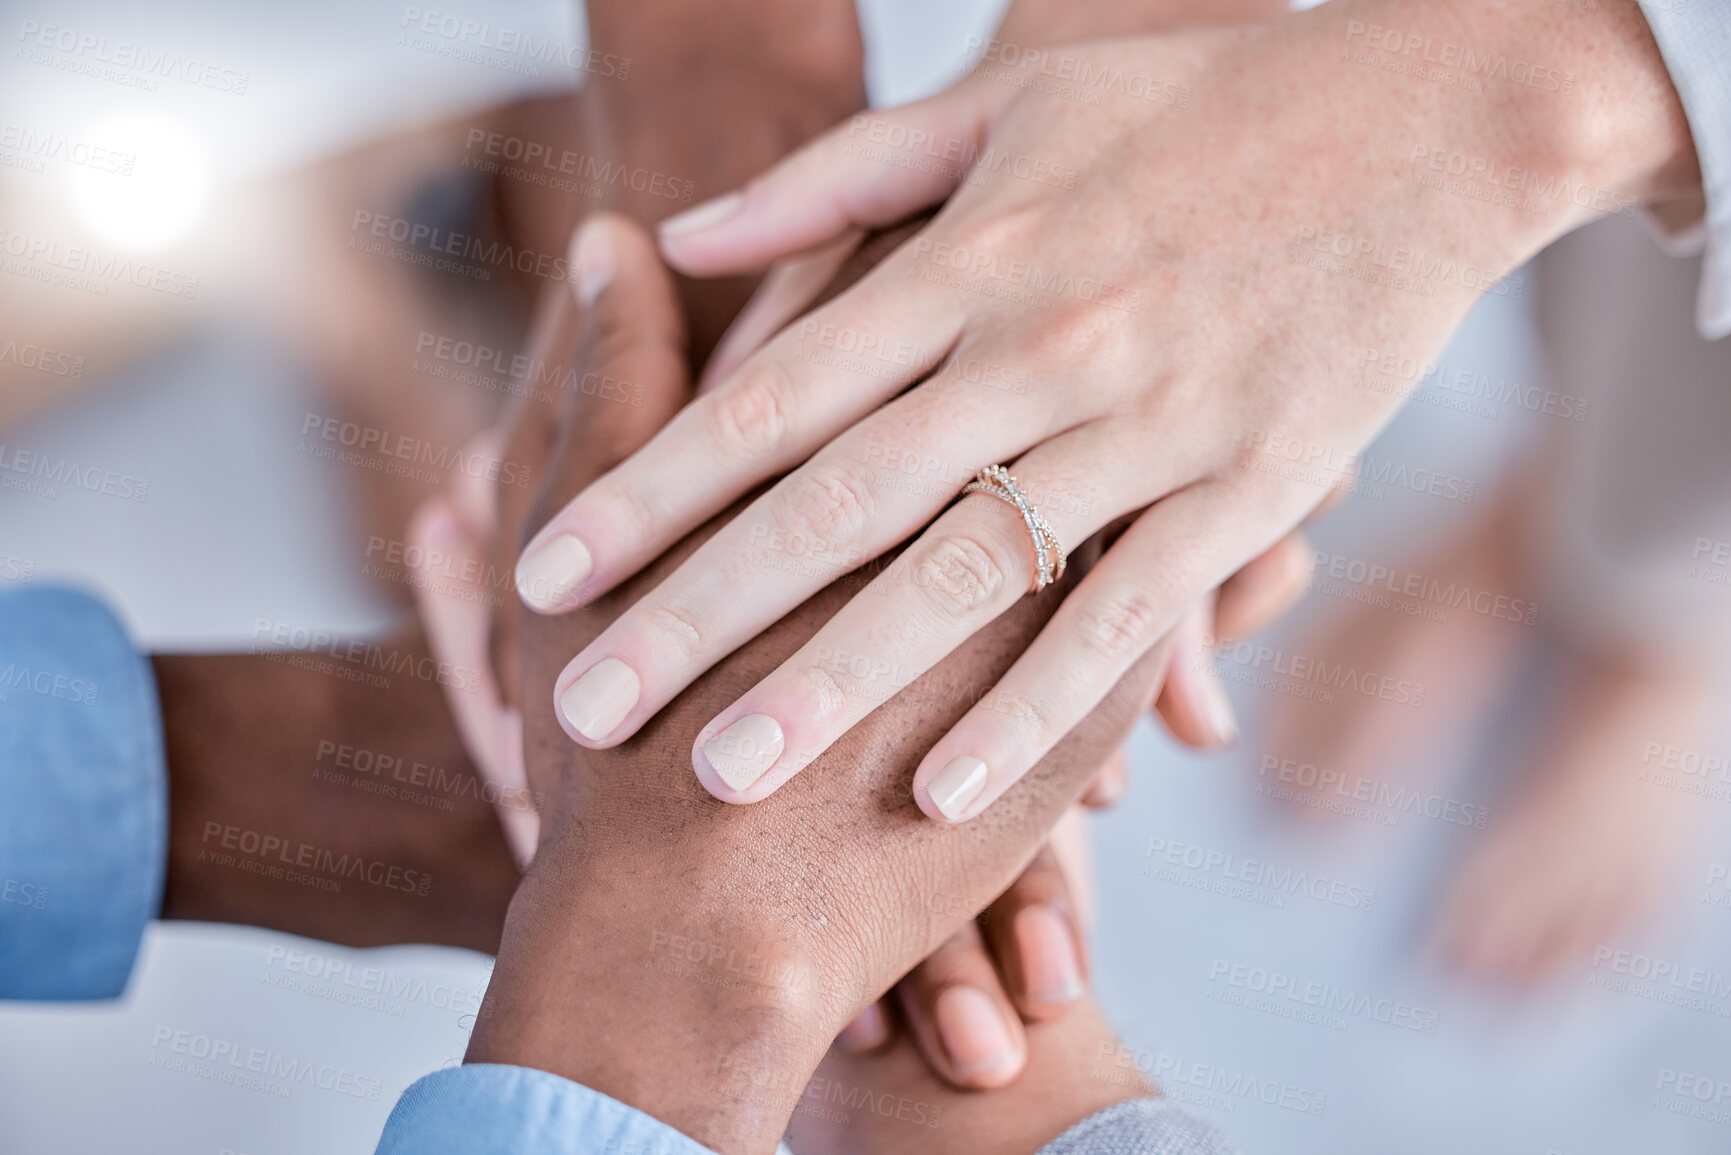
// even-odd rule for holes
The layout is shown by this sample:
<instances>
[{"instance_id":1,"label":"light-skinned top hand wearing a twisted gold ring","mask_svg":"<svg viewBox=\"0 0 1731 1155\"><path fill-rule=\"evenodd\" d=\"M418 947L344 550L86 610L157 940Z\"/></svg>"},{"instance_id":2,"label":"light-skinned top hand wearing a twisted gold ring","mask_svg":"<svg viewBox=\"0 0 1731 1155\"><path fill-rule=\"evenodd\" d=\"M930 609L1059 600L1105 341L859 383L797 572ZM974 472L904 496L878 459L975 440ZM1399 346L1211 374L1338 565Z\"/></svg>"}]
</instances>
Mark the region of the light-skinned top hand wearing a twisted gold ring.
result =
<instances>
[{"instance_id":1,"label":"light-skinned top hand wearing a twisted gold ring","mask_svg":"<svg viewBox=\"0 0 1731 1155\"><path fill-rule=\"evenodd\" d=\"M1380 68L1367 45L1388 29L1541 61L1539 76L1570 90L1496 76L1468 90ZM523 571L563 577L563 596L537 608L566 610L791 469L576 655L561 694L582 700L602 661L628 668L635 693L608 726L571 726L573 739L630 738L834 573L917 533L698 734L692 764L717 797L765 798L876 707L860 679L917 677L1026 592L1021 521L983 495L950 506L976 469L1009 462L1065 547L1134 521L926 755L919 807L969 819L1350 473L1397 407L1354 384L1366 350L1430 358L1483 291L1593 213L1573 197L1527 211L1442 194L1411 178L1414 144L1622 203L1696 182L1631 5L1561 23L1539 0L1343 0L1065 52L1089 74L1141 81L1087 104L981 73L857 118L744 196L665 227L677 267L717 274L954 192L531 542ZM1030 171L1061 180L1009 166L957 187L962 165L883 163L897 140L1032 158Z\"/></svg>"}]
</instances>

